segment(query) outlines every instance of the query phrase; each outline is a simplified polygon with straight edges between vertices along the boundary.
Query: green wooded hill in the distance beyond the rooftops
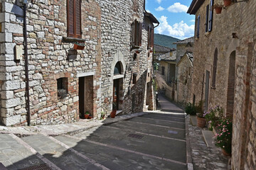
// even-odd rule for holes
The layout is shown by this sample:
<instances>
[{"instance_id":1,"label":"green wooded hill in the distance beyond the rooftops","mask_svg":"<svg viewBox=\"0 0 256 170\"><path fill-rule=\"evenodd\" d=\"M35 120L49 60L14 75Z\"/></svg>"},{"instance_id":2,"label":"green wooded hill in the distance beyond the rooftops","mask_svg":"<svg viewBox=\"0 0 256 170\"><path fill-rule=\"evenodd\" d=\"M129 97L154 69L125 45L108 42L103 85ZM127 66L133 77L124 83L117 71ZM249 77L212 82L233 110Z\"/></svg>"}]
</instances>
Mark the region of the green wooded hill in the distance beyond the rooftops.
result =
<instances>
[{"instance_id":1,"label":"green wooded hill in the distance beyond the rooftops","mask_svg":"<svg viewBox=\"0 0 256 170\"><path fill-rule=\"evenodd\" d=\"M170 47L170 48L176 48L176 45L174 45L174 42L177 42L178 38L173 38L168 35L162 35L162 34L154 34L154 44L161 45L164 47Z\"/></svg>"}]
</instances>

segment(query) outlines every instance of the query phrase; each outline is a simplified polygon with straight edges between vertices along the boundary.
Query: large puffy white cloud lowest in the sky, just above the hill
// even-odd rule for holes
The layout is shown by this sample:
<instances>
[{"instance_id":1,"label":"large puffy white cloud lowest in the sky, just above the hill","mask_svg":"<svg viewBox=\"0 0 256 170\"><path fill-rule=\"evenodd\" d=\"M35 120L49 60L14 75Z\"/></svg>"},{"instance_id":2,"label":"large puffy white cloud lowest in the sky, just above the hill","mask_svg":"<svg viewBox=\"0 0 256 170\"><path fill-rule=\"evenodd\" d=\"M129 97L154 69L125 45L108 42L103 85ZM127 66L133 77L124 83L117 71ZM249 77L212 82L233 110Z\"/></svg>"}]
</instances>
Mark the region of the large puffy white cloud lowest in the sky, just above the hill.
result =
<instances>
[{"instance_id":1,"label":"large puffy white cloud lowest in the sky, just above the hill","mask_svg":"<svg viewBox=\"0 0 256 170\"><path fill-rule=\"evenodd\" d=\"M175 23L173 26L170 26L166 16L161 16L159 22L159 26L156 27L156 33L170 35L181 40L193 36L194 25L188 26L184 21L181 21L180 23Z\"/></svg>"}]
</instances>

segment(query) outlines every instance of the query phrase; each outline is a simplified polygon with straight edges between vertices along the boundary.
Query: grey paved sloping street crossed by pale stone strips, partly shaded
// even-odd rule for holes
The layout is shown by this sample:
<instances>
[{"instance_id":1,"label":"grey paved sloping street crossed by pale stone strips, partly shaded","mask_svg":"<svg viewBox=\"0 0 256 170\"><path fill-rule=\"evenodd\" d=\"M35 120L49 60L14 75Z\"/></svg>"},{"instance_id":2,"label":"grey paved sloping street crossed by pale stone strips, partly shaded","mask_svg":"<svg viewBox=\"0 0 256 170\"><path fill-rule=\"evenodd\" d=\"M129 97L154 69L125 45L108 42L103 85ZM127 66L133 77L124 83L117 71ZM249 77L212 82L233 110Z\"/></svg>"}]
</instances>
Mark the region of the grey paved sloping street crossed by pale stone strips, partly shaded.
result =
<instances>
[{"instance_id":1,"label":"grey paved sloping street crossed by pale stone strips, partly shaded","mask_svg":"<svg viewBox=\"0 0 256 170\"><path fill-rule=\"evenodd\" d=\"M73 136L14 138L20 149L24 150L21 146L25 146L32 154L24 155L16 162L3 162L7 169L38 164L47 164L51 169L187 169L186 130L182 114L149 113ZM10 145L6 147L11 148ZM41 159L36 157L36 153ZM0 152L0 159L10 157ZM35 162L30 162L32 158Z\"/></svg>"}]
</instances>

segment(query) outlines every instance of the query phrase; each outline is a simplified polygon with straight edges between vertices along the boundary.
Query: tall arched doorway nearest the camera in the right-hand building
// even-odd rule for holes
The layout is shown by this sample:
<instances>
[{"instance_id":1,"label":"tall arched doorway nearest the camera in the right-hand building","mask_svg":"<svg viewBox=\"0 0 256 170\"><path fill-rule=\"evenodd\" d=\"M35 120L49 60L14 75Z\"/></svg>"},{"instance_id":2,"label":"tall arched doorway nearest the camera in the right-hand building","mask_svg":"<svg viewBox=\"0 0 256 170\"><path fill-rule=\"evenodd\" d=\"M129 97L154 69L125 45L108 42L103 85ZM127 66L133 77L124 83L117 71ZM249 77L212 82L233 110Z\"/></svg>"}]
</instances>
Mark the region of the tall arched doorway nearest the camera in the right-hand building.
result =
<instances>
[{"instance_id":1,"label":"tall arched doorway nearest the camera in the right-hand building","mask_svg":"<svg viewBox=\"0 0 256 170\"><path fill-rule=\"evenodd\" d=\"M234 111L235 98L235 51L230 54L230 64L228 70L228 94L226 116L232 116Z\"/></svg>"}]
</instances>

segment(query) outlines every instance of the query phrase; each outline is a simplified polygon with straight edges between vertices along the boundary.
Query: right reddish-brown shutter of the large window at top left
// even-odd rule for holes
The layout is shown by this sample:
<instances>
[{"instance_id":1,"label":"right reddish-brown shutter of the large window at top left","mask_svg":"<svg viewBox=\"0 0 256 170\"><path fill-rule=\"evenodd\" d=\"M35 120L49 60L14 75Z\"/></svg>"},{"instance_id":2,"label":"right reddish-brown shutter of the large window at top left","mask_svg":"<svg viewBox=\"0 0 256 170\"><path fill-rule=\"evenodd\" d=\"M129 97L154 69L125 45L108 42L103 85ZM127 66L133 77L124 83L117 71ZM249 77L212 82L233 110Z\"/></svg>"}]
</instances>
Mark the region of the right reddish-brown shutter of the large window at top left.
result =
<instances>
[{"instance_id":1,"label":"right reddish-brown shutter of the large window at top left","mask_svg":"<svg viewBox=\"0 0 256 170\"><path fill-rule=\"evenodd\" d=\"M81 1L75 1L75 38L82 37L81 31Z\"/></svg>"}]
</instances>

